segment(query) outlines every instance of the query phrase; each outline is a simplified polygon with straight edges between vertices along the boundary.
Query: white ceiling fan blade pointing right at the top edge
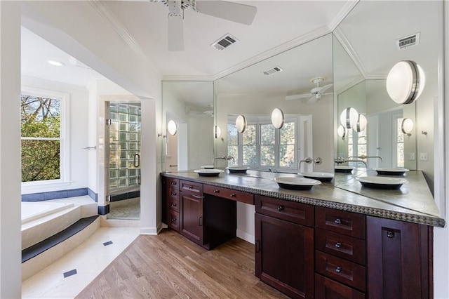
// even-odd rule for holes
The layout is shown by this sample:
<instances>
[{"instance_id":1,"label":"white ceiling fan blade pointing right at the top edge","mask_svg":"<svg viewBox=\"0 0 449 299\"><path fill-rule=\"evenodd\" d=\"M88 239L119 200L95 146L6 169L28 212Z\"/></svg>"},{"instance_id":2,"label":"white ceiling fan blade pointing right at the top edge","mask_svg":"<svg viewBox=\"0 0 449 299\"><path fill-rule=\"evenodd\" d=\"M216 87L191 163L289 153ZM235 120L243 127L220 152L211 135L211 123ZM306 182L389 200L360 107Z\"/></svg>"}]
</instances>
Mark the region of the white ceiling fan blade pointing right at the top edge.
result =
<instances>
[{"instance_id":1,"label":"white ceiling fan blade pointing right at the top edge","mask_svg":"<svg viewBox=\"0 0 449 299\"><path fill-rule=\"evenodd\" d=\"M245 25L253 23L257 7L227 1L196 1L200 13L238 22Z\"/></svg>"}]
</instances>

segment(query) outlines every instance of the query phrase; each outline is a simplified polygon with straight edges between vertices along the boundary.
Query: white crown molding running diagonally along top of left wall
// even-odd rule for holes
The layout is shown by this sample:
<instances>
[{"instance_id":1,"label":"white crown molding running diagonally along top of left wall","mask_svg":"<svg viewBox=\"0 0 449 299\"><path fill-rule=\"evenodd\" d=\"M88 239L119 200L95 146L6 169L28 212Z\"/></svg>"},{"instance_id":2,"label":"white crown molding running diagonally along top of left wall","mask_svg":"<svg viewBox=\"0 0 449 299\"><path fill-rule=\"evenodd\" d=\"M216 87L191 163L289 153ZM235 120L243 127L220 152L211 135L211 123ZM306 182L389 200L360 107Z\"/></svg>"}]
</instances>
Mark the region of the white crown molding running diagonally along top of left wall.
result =
<instances>
[{"instance_id":1,"label":"white crown molding running diagonally along top of left wall","mask_svg":"<svg viewBox=\"0 0 449 299\"><path fill-rule=\"evenodd\" d=\"M138 57L145 60L145 62L148 63L148 65L154 70L154 72L156 72L156 74L159 74L159 77L162 77L159 69L156 69L156 67L154 67L153 62L148 59L147 55L145 55L145 51L143 51L138 42L134 39L133 35L128 32L128 29L123 26L116 15L114 15L114 13L112 13L112 11L110 11L102 1L88 0L88 2L102 17L102 19L105 20L112 27L112 29L114 29L114 32L116 32L116 34L119 34L121 39L125 41L125 43L134 51L134 53L136 53Z\"/></svg>"}]
</instances>

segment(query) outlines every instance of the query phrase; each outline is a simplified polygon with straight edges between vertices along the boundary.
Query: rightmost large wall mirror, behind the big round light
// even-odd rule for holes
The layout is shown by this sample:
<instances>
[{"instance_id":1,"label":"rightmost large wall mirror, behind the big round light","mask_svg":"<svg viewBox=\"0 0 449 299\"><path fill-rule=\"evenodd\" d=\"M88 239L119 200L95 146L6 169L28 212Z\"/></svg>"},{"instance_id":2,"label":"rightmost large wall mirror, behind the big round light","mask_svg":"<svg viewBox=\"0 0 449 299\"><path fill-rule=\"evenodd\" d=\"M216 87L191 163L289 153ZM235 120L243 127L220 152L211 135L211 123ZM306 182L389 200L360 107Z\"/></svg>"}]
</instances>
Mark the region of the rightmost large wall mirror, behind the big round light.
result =
<instances>
[{"instance_id":1,"label":"rightmost large wall mirror, behind the big round light","mask_svg":"<svg viewBox=\"0 0 449 299\"><path fill-rule=\"evenodd\" d=\"M442 100L438 77L442 1L361 1L333 34L335 160L357 160L341 165L358 169L418 169L434 192L434 136L438 135L434 107ZM401 39L406 41L400 43ZM424 91L409 105L391 100L385 84L389 69L401 60L417 62L425 73ZM337 133L340 114L347 107L366 117L364 131ZM401 130L406 118L413 122L409 133ZM371 158L361 159L364 156ZM335 185L344 188L340 180Z\"/></svg>"}]
</instances>

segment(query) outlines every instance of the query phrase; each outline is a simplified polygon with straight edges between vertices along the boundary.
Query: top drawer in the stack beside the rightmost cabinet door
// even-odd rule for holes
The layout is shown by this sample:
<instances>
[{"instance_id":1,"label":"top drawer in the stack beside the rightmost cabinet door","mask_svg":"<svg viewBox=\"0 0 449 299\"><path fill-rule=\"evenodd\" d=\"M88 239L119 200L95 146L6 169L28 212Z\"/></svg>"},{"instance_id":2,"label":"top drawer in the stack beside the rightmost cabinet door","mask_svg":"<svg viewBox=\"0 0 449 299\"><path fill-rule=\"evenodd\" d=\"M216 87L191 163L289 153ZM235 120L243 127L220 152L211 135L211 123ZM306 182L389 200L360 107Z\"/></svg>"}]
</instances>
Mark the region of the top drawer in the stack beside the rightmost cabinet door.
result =
<instances>
[{"instance_id":1,"label":"top drawer in the stack beside the rightmost cabinet door","mask_svg":"<svg viewBox=\"0 0 449 299\"><path fill-rule=\"evenodd\" d=\"M365 215L335 210L333 208L315 208L315 226L347 236L366 239Z\"/></svg>"}]
</instances>

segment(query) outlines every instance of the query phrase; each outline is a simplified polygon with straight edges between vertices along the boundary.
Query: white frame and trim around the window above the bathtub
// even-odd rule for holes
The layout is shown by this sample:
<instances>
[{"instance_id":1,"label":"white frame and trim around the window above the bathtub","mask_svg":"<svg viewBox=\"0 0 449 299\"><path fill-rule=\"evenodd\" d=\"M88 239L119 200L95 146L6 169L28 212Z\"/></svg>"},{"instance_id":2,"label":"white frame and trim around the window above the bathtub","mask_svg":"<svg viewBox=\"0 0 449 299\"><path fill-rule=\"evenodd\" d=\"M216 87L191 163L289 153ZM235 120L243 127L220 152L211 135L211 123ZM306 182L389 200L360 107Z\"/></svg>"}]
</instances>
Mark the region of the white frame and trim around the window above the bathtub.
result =
<instances>
[{"instance_id":1,"label":"white frame and trim around the window above the bathtub","mask_svg":"<svg viewBox=\"0 0 449 299\"><path fill-rule=\"evenodd\" d=\"M88 150L83 148L94 145L88 141L88 102L87 88L45 79L22 76L22 88L38 88L69 94L69 128L70 128L70 178L67 183L55 183L39 186L22 186L22 194L69 190L88 187Z\"/></svg>"}]
</instances>

